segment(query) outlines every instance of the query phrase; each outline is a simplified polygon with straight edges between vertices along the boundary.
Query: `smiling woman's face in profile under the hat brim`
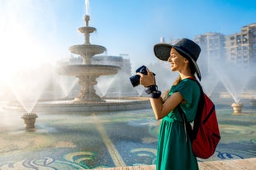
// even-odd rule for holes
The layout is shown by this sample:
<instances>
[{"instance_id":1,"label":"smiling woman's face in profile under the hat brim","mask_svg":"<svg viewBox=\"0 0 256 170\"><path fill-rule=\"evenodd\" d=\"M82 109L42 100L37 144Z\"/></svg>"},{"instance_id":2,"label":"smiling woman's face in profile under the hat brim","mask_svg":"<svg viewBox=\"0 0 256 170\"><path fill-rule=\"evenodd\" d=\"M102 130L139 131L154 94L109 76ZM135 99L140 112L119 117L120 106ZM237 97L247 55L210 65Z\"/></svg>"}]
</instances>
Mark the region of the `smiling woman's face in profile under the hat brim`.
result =
<instances>
[{"instance_id":1,"label":"smiling woman's face in profile under the hat brim","mask_svg":"<svg viewBox=\"0 0 256 170\"><path fill-rule=\"evenodd\" d=\"M171 49L168 62L171 64L172 71L181 71L185 67L186 60L187 59L180 55L175 48Z\"/></svg>"}]
</instances>

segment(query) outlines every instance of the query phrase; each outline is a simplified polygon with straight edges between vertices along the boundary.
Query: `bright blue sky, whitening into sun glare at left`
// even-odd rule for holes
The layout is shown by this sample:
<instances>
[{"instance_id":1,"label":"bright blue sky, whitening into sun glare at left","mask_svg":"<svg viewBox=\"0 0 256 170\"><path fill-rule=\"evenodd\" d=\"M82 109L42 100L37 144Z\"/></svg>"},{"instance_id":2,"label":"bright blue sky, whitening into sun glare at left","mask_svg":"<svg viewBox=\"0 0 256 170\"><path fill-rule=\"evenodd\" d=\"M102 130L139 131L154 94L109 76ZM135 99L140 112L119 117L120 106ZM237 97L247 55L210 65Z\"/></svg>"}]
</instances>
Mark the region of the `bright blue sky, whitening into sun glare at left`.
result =
<instances>
[{"instance_id":1,"label":"bright blue sky, whitening into sun glare at left","mask_svg":"<svg viewBox=\"0 0 256 170\"><path fill-rule=\"evenodd\" d=\"M0 72L70 57L69 47L84 43L78 28L86 13L97 28L91 44L106 47L107 55L126 54L134 70L157 61L153 47L161 37L235 34L256 23L255 0L90 0L87 7L85 1L0 0Z\"/></svg>"}]
</instances>

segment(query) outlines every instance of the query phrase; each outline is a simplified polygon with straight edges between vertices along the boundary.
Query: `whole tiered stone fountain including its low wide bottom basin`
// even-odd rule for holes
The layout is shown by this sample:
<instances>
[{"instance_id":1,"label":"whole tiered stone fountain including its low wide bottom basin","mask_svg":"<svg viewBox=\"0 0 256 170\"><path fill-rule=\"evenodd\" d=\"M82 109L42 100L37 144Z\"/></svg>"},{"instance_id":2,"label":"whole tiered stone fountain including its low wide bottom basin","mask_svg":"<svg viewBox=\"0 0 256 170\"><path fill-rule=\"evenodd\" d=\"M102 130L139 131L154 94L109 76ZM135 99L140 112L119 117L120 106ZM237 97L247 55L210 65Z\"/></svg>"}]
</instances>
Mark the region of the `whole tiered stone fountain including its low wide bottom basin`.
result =
<instances>
[{"instance_id":1,"label":"whole tiered stone fountain including its low wide bottom basin","mask_svg":"<svg viewBox=\"0 0 256 170\"><path fill-rule=\"evenodd\" d=\"M89 26L90 16L85 15L84 21L86 26L80 27L78 30L84 34L84 44L73 45L69 51L83 57L83 64L81 65L64 65L59 67L59 75L76 76L79 79L81 90L72 101L55 102L50 107L50 111L56 112L84 112L84 111L116 111L116 110L130 110L149 108L149 99L144 98L130 98L130 99L102 99L96 94L94 85L97 85L97 77L105 75L114 75L120 67L111 65L92 64L92 57L94 55L104 53L105 47L90 43L90 34L96 29ZM45 104L37 104L37 108L45 107ZM62 109L63 108L63 109Z\"/></svg>"}]
</instances>

